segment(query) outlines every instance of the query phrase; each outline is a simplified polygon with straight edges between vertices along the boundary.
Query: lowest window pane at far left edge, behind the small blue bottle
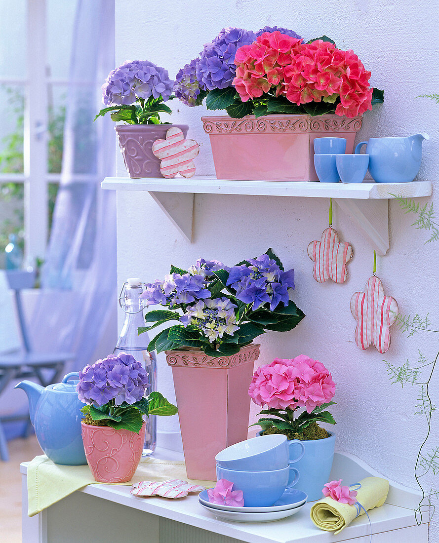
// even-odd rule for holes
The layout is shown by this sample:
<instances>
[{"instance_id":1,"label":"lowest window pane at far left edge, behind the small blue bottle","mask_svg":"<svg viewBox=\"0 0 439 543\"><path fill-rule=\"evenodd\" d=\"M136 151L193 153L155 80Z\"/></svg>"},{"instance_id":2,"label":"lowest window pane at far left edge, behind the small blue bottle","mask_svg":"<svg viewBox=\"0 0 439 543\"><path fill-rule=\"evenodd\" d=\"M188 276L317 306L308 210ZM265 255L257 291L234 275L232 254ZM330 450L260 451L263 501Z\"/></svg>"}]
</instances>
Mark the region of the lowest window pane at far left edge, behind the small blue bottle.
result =
<instances>
[{"instance_id":1,"label":"lowest window pane at far left edge, behind the small blue bottle","mask_svg":"<svg viewBox=\"0 0 439 543\"><path fill-rule=\"evenodd\" d=\"M12 245L9 244L13 244ZM9 247L8 247L9 245ZM5 249L8 249L8 253ZM21 267L23 259L23 184L0 184L0 268ZM8 262L7 262L8 261Z\"/></svg>"}]
</instances>

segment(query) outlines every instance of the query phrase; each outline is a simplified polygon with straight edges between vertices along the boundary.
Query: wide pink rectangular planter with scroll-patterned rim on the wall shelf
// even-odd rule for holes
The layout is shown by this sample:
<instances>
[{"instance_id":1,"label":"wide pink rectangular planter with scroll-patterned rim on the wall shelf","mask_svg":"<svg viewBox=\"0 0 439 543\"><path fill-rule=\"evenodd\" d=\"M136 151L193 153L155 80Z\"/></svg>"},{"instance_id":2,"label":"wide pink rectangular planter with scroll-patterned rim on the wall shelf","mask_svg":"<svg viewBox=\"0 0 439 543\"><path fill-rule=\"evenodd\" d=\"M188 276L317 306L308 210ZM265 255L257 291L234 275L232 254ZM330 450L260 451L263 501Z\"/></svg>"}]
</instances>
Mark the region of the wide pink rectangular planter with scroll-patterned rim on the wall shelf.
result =
<instances>
[{"instance_id":1,"label":"wide pink rectangular planter with scroll-patterned rim on the wall shelf","mask_svg":"<svg viewBox=\"0 0 439 543\"><path fill-rule=\"evenodd\" d=\"M353 153L361 117L328 115L227 115L202 117L209 134L217 179L318 181L314 169L316 137L344 137Z\"/></svg>"}]
</instances>

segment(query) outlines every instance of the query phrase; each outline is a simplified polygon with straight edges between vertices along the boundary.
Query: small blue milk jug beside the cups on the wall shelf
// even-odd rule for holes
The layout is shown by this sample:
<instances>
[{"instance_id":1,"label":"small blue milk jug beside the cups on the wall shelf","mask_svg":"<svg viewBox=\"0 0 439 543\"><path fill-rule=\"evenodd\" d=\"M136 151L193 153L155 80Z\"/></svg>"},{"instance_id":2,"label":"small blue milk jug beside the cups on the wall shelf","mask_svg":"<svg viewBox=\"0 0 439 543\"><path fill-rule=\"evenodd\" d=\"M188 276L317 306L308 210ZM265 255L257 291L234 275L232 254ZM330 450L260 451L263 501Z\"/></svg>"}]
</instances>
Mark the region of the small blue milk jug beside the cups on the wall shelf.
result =
<instances>
[{"instance_id":1,"label":"small blue milk jug beside the cups on the wall shelf","mask_svg":"<svg viewBox=\"0 0 439 543\"><path fill-rule=\"evenodd\" d=\"M358 155L366 145L369 172L377 183L407 183L415 179L421 168L422 142L428 134L408 137L372 137L355 147Z\"/></svg>"}]
</instances>

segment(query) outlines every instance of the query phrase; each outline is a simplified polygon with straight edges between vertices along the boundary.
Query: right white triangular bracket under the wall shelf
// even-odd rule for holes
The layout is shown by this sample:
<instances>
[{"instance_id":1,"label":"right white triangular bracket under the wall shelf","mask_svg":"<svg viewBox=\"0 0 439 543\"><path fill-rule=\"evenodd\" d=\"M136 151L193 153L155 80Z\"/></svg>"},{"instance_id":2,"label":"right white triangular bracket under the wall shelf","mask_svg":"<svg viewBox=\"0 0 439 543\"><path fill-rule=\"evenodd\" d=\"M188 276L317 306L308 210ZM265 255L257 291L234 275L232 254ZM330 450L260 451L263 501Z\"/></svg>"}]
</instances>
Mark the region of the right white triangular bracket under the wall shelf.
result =
<instances>
[{"instance_id":1,"label":"right white triangular bracket under the wall shelf","mask_svg":"<svg viewBox=\"0 0 439 543\"><path fill-rule=\"evenodd\" d=\"M381 256L388 250L388 200L336 198L338 207L356 223Z\"/></svg>"}]
</instances>

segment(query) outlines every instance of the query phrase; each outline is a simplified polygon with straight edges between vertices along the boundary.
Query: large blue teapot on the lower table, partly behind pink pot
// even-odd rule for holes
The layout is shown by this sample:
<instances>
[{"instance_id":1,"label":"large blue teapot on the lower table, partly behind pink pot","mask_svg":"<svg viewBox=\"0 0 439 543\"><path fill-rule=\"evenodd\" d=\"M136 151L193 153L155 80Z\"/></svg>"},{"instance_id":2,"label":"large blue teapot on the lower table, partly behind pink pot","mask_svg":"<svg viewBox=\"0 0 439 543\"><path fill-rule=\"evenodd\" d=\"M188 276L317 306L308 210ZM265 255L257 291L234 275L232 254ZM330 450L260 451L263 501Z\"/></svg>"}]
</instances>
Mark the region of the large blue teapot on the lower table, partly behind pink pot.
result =
<instances>
[{"instance_id":1,"label":"large blue teapot on the lower table, partly behind pink pot","mask_svg":"<svg viewBox=\"0 0 439 543\"><path fill-rule=\"evenodd\" d=\"M86 464L81 437L81 408L76 385L78 372L67 374L61 383L44 388L32 381L22 381L15 388L26 392L30 421L41 449L55 464Z\"/></svg>"}]
</instances>

